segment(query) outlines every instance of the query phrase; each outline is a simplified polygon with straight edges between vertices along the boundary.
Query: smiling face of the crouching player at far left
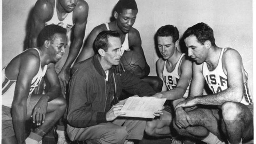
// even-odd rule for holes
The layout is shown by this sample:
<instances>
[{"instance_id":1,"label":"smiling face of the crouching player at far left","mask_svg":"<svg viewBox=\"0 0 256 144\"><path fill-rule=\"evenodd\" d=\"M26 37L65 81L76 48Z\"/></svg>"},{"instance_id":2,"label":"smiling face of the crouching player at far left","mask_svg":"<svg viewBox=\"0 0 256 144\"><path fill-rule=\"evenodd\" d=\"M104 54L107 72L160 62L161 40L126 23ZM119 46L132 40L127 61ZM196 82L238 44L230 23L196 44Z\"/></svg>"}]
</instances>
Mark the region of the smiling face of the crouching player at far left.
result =
<instances>
[{"instance_id":1,"label":"smiling face of the crouching player at far left","mask_svg":"<svg viewBox=\"0 0 256 144\"><path fill-rule=\"evenodd\" d=\"M52 58L53 62L57 62L61 59L63 54L65 53L65 48L67 46L67 36L65 34L58 34L54 35L53 41L49 41L49 51L50 57Z\"/></svg>"}]
</instances>

